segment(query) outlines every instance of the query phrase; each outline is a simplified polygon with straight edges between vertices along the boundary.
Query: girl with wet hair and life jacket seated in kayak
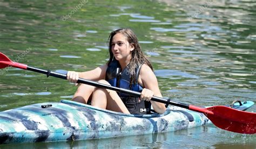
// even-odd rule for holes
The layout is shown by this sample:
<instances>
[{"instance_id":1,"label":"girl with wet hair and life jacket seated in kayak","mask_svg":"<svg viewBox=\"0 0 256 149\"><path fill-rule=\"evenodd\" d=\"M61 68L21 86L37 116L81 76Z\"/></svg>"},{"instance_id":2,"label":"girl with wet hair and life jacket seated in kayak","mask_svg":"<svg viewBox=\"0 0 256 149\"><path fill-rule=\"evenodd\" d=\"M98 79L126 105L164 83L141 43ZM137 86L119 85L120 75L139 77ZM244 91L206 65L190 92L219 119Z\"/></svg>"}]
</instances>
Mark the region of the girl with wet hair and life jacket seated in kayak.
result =
<instances>
[{"instance_id":1,"label":"girl with wet hair and life jacket seated in kayak","mask_svg":"<svg viewBox=\"0 0 256 149\"><path fill-rule=\"evenodd\" d=\"M140 49L134 32L131 29L118 29L111 32L109 53L110 59L107 64L91 71L68 71L67 79L69 82L76 83L78 78L84 78L139 91L142 92L140 98L81 84L72 100L85 104L91 102L92 106L131 114L149 114L152 105L154 111L164 113L165 104L151 101L152 96L162 96L152 65Z\"/></svg>"}]
</instances>

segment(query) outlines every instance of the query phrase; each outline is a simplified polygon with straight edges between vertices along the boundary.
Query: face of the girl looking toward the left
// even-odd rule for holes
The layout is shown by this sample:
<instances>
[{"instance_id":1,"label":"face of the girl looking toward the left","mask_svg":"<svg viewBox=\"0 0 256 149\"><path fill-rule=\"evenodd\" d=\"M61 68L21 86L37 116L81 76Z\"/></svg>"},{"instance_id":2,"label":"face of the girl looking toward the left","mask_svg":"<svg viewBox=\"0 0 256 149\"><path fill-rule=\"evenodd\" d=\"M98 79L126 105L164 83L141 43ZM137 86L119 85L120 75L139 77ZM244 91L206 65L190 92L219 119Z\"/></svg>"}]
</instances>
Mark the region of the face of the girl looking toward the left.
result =
<instances>
[{"instance_id":1,"label":"face of the girl looking toward the left","mask_svg":"<svg viewBox=\"0 0 256 149\"><path fill-rule=\"evenodd\" d=\"M130 62L131 51L134 50L133 44L130 44L122 33L117 33L112 38L111 50L116 60Z\"/></svg>"}]
</instances>

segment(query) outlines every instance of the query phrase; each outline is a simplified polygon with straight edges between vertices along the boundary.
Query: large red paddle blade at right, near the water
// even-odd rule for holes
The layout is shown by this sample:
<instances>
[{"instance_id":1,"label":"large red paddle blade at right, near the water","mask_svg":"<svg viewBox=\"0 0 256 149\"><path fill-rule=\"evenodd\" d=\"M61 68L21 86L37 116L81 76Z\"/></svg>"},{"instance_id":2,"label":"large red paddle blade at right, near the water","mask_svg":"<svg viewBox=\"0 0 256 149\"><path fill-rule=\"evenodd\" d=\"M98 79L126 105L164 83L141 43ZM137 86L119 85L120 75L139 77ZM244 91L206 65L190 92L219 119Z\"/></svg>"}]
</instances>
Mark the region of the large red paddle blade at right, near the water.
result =
<instances>
[{"instance_id":1,"label":"large red paddle blade at right, near the water","mask_svg":"<svg viewBox=\"0 0 256 149\"><path fill-rule=\"evenodd\" d=\"M256 133L256 113L240 111L226 106L212 106L208 107L207 110L213 114L205 112L205 116L219 128L237 133Z\"/></svg>"}]
</instances>

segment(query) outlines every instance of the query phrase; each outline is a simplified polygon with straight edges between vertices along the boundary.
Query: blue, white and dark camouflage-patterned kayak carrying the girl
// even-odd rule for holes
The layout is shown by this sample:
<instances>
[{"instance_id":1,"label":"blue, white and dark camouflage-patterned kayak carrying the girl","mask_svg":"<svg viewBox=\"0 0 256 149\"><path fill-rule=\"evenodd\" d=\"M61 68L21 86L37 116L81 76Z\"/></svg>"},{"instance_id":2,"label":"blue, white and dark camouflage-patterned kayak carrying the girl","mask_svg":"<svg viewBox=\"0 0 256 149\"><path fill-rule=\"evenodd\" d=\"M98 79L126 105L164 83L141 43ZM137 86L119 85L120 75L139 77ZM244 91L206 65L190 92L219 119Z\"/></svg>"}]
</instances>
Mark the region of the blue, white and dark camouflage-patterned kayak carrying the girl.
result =
<instances>
[{"instance_id":1,"label":"blue, white and dark camouflage-patterned kayak carrying the girl","mask_svg":"<svg viewBox=\"0 0 256 149\"><path fill-rule=\"evenodd\" d=\"M253 104L244 101L232 108L245 111ZM211 121L203 113L171 105L163 114L136 115L60 100L0 112L0 144L131 136L207 124Z\"/></svg>"}]
</instances>

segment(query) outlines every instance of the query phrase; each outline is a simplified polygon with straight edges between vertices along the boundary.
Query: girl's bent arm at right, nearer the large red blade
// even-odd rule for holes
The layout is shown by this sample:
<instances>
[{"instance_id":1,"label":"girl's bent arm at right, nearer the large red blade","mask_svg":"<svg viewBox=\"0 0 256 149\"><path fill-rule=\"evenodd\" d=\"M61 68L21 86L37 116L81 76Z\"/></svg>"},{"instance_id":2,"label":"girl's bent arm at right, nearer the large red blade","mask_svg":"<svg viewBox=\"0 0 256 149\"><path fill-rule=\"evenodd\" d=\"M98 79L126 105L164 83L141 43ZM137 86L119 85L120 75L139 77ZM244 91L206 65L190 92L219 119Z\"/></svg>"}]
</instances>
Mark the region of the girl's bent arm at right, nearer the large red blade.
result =
<instances>
[{"instance_id":1,"label":"girl's bent arm at right, nearer the large red blade","mask_svg":"<svg viewBox=\"0 0 256 149\"><path fill-rule=\"evenodd\" d=\"M152 96L162 97L161 92L158 87L157 77L154 75L153 71L146 64L142 65L140 69L139 77L142 80L144 89L142 91L143 100L149 101ZM164 113L166 110L165 104L150 100L154 111L158 113Z\"/></svg>"}]
</instances>

